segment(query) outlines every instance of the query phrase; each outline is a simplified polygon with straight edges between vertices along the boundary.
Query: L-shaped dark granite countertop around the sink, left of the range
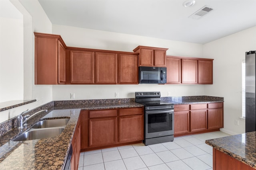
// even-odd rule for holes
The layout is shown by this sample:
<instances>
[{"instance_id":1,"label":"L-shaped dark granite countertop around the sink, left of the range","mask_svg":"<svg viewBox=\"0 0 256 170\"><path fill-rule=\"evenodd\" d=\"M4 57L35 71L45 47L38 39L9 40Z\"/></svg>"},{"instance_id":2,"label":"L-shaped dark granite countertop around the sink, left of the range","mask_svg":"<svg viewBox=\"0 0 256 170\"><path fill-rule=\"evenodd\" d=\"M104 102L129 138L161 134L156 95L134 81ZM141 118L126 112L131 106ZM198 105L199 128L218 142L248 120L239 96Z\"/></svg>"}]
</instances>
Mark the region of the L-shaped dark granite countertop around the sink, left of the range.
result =
<instances>
[{"instance_id":1,"label":"L-shaped dark granite countertop around the sink, left of the range","mask_svg":"<svg viewBox=\"0 0 256 170\"><path fill-rule=\"evenodd\" d=\"M62 170L81 109L114 109L142 106L132 101L119 103L88 101L56 102L53 107L48 108L48 113L41 119L70 117L64 131L60 135L51 138L14 142L12 140L22 132L17 127L13 128L1 136L0 169Z\"/></svg>"}]
</instances>

